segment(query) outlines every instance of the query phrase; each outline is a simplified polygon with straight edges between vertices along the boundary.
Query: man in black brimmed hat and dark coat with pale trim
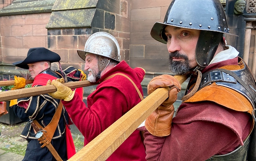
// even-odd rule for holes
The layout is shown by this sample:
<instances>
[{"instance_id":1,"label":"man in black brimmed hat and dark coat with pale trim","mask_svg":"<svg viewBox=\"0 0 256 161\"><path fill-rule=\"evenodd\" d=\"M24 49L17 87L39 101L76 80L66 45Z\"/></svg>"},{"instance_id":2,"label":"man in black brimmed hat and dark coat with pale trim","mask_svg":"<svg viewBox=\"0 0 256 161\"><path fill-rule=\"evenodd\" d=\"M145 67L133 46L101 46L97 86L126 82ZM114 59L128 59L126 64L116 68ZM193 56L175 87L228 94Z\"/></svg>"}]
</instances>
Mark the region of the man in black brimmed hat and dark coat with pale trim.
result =
<instances>
[{"instance_id":1,"label":"man in black brimmed hat and dark coat with pale trim","mask_svg":"<svg viewBox=\"0 0 256 161\"><path fill-rule=\"evenodd\" d=\"M34 78L33 87L44 86L49 79L64 78L65 82L68 82L78 81L83 78L83 72L74 67L68 67L65 70L52 71L50 69L51 63L59 61L60 56L57 53L44 47L37 47L29 49L25 60L13 64L30 71L31 77ZM25 84L26 80L24 78L15 76L13 90L24 88ZM59 112L59 120L57 119L59 123L57 127L55 126L56 128L52 128L50 122L53 122L53 120L57 118L54 114L57 113L59 104L59 111L61 112L61 114ZM22 121L29 122L20 135L20 137L25 138L28 142L23 161L55 160L48 148L41 148L44 142L40 140L40 136L38 136L40 133L36 133L37 130L34 128L33 123L39 128L49 129L47 134L50 135L52 133L52 138L49 140L51 140L51 144L62 160L67 160L75 154L75 146L68 126L68 113L65 110L65 107L60 103L60 99L54 99L48 94L41 94L20 98L16 102L15 100L12 100L11 105L14 108L14 113ZM68 141L69 139L71 139L71 142Z\"/></svg>"}]
</instances>

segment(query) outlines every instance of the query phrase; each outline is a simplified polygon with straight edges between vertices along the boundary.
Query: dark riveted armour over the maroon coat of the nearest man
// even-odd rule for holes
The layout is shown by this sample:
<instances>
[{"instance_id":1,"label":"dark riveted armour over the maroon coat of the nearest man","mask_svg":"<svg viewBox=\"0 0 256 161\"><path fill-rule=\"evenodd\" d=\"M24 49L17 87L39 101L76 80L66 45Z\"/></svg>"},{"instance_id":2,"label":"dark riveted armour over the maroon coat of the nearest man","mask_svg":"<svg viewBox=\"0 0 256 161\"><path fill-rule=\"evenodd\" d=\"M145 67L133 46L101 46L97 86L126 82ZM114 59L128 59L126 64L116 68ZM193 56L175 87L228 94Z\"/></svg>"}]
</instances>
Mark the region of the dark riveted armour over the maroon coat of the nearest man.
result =
<instances>
[{"instance_id":1,"label":"dark riveted armour over the maroon coat of the nearest man","mask_svg":"<svg viewBox=\"0 0 256 161\"><path fill-rule=\"evenodd\" d=\"M199 90L205 86L211 85L213 82L216 85L224 86L229 89L235 90L242 94L251 102L253 109L255 109L255 80L247 66L241 70L223 70L215 69L202 74L202 81ZM193 82L192 82L193 83ZM190 85L188 85L189 87ZM253 115L253 114L252 114ZM244 146L239 146L233 152L224 155L214 155L207 161L246 161L255 160L256 151L256 133L253 129L252 133L245 139Z\"/></svg>"}]
</instances>

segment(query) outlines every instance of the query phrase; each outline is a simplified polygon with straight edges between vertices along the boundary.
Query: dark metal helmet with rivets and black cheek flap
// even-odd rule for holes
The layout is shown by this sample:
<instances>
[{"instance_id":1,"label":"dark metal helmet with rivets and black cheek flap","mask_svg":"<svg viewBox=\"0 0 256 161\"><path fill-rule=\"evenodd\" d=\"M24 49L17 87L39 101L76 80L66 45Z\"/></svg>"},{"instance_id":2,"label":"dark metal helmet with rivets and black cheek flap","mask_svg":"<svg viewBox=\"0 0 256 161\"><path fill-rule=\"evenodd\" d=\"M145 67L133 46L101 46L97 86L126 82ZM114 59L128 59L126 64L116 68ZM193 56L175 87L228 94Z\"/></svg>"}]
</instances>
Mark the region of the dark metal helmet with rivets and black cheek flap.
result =
<instances>
[{"instance_id":1,"label":"dark metal helmet with rivets and black cheek flap","mask_svg":"<svg viewBox=\"0 0 256 161\"><path fill-rule=\"evenodd\" d=\"M212 60L223 33L229 34L224 9L219 0L173 0L163 23L151 29L155 40L167 43L166 25L201 30L196 46L196 62L206 67Z\"/></svg>"}]
</instances>

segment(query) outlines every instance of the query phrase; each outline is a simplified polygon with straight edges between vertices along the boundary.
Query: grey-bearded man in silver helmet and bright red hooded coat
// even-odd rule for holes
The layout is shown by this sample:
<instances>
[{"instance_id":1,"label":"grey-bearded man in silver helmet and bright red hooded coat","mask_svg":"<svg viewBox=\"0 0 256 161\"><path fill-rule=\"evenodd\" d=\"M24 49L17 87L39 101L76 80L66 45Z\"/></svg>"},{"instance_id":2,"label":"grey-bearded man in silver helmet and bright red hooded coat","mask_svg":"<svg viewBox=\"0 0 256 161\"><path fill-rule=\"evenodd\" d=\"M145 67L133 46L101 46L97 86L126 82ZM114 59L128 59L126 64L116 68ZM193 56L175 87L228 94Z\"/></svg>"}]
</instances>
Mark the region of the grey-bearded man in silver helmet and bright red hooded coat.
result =
<instances>
[{"instance_id":1,"label":"grey-bearded man in silver helmet and bright red hooded coat","mask_svg":"<svg viewBox=\"0 0 256 161\"><path fill-rule=\"evenodd\" d=\"M124 60L120 62L117 40L106 32L91 35L84 51L78 50L78 55L85 60L84 70L89 71L87 80L99 83L87 97L87 106L77 94L56 80L48 82L57 88L49 95L64 100L63 105L87 145L143 99L140 83L145 70L133 69ZM135 130L107 160L143 161L145 157L140 131Z\"/></svg>"}]
</instances>

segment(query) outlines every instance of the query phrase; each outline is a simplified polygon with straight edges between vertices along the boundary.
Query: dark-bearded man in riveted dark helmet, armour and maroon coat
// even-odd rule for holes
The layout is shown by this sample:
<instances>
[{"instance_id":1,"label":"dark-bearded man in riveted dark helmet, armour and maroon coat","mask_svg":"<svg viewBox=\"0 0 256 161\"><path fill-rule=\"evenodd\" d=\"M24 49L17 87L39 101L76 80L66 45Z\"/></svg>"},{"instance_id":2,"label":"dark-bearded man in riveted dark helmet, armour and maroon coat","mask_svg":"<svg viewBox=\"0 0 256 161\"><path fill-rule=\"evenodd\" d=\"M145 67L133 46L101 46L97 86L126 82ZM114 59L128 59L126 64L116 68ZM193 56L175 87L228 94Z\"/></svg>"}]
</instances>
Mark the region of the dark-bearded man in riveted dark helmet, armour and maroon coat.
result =
<instances>
[{"instance_id":1,"label":"dark-bearded man in riveted dark helmet, armour and maroon coat","mask_svg":"<svg viewBox=\"0 0 256 161\"><path fill-rule=\"evenodd\" d=\"M140 129L146 130L147 160L246 160L255 80L238 51L226 46L223 33L229 29L219 0L173 0L164 22L154 24L151 36L167 44L170 70L190 72L191 78L175 117L178 80L161 75L148 84L148 94L159 87L170 91Z\"/></svg>"}]
</instances>

